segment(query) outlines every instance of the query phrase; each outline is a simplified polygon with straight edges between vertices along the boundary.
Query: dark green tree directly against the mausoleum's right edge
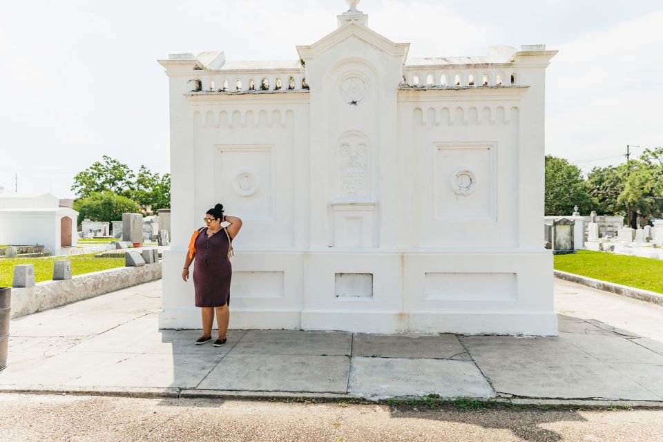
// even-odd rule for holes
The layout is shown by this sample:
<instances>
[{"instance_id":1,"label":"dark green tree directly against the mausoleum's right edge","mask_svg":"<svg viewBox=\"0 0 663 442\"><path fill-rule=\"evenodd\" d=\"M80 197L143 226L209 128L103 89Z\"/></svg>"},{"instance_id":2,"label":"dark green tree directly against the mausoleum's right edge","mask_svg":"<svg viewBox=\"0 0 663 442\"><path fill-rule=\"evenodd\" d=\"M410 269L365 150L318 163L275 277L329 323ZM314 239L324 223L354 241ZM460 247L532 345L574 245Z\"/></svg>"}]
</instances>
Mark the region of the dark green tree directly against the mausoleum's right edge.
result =
<instances>
[{"instance_id":1,"label":"dark green tree directly against the mausoleum's right edge","mask_svg":"<svg viewBox=\"0 0 663 442\"><path fill-rule=\"evenodd\" d=\"M546 215L570 215L576 205L587 213L595 205L580 169L553 155L546 155L545 198Z\"/></svg>"}]
</instances>

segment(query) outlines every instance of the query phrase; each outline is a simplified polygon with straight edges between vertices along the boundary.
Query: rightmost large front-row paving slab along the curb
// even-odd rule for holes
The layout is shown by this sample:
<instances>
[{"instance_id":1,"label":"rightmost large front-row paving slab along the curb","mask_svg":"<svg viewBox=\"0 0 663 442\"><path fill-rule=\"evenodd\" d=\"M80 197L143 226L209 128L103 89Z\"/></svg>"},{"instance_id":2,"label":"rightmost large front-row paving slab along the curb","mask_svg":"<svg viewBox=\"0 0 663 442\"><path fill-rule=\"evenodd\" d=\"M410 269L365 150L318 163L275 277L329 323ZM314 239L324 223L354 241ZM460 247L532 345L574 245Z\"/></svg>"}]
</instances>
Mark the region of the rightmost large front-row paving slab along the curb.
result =
<instances>
[{"instance_id":1,"label":"rightmost large front-row paving slab along the curb","mask_svg":"<svg viewBox=\"0 0 663 442\"><path fill-rule=\"evenodd\" d=\"M492 359L477 362L477 365L501 394L532 398L660 400L642 385L598 361L511 363Z\"/></svg>"}]
</instances>

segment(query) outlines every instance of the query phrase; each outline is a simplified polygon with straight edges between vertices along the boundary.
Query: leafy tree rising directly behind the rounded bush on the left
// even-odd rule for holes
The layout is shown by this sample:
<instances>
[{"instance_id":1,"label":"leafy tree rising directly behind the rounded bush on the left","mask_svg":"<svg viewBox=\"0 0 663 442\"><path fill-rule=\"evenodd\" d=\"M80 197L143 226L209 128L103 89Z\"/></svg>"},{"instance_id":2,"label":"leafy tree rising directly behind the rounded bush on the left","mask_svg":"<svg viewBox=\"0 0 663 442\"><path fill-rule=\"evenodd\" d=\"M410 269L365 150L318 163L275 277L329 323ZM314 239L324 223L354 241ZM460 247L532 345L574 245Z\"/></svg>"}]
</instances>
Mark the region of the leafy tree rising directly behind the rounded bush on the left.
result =
<instances>
[{"instance_id":1,"label":"leafy tree rising directly behind the rounded bush on the left","mask_svg":"<svg viewBox=\"0 0 663 442\"><path fill-rule=\"evenodd\" d=\"M113 158L104 155L104 162L95 162L74 177L71 190L78 198L86 198L95 192L111 191L118 195L131 197L133 189L133 171Z\"/></svg>"}]
</instances>

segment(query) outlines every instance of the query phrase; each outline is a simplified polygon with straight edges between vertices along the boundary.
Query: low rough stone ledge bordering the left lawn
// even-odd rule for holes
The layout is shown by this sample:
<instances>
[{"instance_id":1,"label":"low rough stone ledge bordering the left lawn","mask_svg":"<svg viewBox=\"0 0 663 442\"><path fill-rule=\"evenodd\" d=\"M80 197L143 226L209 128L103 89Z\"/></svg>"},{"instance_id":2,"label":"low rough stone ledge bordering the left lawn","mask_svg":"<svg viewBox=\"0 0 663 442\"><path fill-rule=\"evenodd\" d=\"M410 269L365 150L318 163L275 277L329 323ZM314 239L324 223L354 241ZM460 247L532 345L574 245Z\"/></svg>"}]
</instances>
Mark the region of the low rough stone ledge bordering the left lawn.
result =
<instances>
[{"instance_id":1,"label":"low rough stone ledge bordering the left lawn","mask_svg":"<svg viewBox=\"0 0 663 442\"><path fill-rule=\"evenodd\" d=\"M34 287L13 288L10 318L21 318L157 279L161 279L161 263L117 267L77 275L70 280L44 281Z\"/></svg>"}]
</instances>

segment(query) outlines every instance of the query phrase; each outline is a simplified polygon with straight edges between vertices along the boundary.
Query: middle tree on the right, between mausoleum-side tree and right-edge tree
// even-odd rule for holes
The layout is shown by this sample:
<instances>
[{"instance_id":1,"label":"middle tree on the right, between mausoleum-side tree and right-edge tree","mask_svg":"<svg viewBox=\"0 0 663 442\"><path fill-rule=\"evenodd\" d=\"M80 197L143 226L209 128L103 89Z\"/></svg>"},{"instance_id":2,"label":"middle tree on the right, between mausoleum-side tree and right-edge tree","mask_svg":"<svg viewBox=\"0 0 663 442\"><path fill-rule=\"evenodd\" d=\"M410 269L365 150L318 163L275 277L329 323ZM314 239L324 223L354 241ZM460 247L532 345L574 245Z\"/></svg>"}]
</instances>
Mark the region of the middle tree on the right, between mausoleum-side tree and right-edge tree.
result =
<instances>
[{"instance_id":1,"label":"middle tree on the right, between mausoleum-side tree and right-edge tree","mask_svg":"<svg viewBox=\"0 0 663 442\"><path fill-rule=\"evenodd\" d=\"M595 167L587 175L589 195L597 202L595 211L599 215L624 214L626 207L620 203L619 195L624 191L626 166Z\"/></svg>"}]
</instances>

